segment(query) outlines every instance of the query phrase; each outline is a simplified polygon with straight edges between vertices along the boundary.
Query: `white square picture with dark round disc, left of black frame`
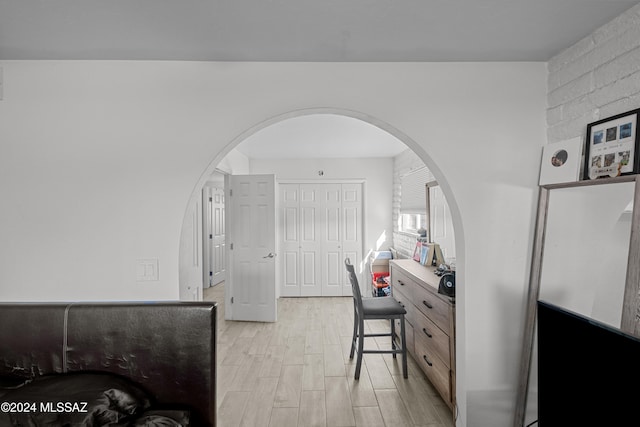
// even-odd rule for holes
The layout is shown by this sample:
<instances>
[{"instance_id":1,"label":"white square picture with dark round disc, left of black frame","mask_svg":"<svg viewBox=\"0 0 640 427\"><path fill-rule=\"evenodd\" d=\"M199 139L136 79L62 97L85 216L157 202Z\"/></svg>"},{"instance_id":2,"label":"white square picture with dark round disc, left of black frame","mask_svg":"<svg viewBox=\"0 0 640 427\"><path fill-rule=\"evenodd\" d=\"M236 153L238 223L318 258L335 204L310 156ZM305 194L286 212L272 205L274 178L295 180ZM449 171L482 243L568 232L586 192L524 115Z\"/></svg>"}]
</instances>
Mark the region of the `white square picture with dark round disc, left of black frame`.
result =
<instances>
[{"instance_id":1,"label":"white square picture with dark round disc, left of black frame","mask_svg":"<svg viewBox=\"0 0 640 427\"><path fill-rule=\"evenodd\" d=\"M538 185L576 182L582 166L582 138L547 144L542 149Z\"/></svg>"}]
</instances>

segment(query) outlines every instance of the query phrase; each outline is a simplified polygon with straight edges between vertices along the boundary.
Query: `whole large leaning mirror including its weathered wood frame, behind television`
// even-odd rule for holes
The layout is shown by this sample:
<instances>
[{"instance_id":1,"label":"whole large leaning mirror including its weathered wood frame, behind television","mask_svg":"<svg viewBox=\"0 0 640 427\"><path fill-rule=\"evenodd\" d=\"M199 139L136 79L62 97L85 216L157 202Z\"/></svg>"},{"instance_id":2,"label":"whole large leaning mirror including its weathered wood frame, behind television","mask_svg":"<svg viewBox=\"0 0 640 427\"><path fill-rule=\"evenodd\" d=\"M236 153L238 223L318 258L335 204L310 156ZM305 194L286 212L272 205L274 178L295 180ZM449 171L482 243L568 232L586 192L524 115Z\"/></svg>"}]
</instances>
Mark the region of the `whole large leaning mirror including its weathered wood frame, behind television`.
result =
<instances>
[{"instance_id":1,"label":"whole large leaning mirror including its weathered wood frame, behind television","mask_svg":"<svg viewBox=\"0 0 640 427\"><path fill-rule=\"evenodd\" d=\"M632 176L541 188L515 426L537 419L538 299L625 329L636 187Z\"/></svg>"}]
</instances>

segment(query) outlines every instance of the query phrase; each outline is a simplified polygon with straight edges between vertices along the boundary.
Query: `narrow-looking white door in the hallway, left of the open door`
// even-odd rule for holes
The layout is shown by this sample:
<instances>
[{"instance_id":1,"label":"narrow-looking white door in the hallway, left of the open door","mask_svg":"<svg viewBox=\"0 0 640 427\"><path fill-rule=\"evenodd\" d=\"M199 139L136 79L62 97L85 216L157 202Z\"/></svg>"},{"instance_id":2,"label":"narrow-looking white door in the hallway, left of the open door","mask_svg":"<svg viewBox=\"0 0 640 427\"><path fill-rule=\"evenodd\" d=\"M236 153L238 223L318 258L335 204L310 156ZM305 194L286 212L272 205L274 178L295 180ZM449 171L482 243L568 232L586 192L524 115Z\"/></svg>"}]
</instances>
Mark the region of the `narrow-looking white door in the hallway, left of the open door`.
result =
<instances>
[{"instance_id":1,"label":"narrow-looking white door in the hallway, left of the open door","mask_svg":"<svg viewBox=\"0 0 640 427\"><path fill-rule=\"evenodd\" d=\"M224 188L204 187L206 206L205 283L217 285L226 276Z\"/></svg>"}]
</instances>

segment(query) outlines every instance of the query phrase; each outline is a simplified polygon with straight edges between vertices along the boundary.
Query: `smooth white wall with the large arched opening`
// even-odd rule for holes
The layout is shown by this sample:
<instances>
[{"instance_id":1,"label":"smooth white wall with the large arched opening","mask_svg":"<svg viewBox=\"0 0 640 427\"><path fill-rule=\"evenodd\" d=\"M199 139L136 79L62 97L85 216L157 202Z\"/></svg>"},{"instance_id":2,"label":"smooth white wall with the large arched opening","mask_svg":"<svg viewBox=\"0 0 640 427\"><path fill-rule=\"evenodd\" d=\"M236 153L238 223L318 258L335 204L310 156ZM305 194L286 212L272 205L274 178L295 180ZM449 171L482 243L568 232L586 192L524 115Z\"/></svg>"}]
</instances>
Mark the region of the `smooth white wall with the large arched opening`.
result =
<instances>
[{"instance_id":1,"label":"smooth white wall with the large arched opening","mask_svg":"<svg viewBox=\"0 0 640 427\"><path fill-rule=\"evenodd\" d=\"M511 422L545 64L0 66L0 300L177 298L183 223L215 165L277 120L342 111L405 142L445 191L457 239L458 425ZM136 259L148 257L159 281L136 282ZM485 406L494 419L480 422Z\"/></svg>"}]
</instances>

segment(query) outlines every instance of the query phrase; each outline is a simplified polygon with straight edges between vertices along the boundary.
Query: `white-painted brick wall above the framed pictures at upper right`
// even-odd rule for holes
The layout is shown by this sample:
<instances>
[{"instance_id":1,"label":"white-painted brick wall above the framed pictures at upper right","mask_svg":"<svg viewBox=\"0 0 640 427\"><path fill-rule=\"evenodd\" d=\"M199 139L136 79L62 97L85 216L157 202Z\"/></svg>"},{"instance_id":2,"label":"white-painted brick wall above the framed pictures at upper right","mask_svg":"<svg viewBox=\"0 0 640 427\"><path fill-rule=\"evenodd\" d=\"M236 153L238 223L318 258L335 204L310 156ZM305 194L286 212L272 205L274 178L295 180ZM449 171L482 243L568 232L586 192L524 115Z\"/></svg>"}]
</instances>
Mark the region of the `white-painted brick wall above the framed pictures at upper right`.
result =
<instances>
[{"instance_id":1,"label":"white-painted brick wall above the framed pictures at upper right","mask_svg":"<svg viewBox=\"0 0 640 427\"><path fill-rule=\"evenodd\" d=\"M549 143L584 140L587 124L640 108L640 4L547 66Z\"/></svg>"}]
</instances>

